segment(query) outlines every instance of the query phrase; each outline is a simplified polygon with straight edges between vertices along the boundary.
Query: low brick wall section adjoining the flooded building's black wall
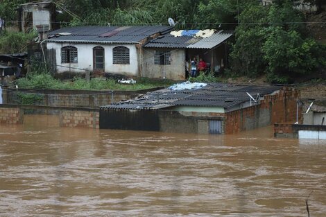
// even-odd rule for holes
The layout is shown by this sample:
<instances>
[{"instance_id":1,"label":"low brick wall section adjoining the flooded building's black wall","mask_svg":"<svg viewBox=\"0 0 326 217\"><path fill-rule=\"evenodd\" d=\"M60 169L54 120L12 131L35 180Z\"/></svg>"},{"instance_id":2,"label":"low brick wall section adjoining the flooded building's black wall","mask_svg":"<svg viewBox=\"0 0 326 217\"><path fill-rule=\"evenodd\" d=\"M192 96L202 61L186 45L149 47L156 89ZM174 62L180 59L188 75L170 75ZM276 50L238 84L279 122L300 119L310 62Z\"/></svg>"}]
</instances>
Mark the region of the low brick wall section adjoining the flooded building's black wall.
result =
<instances>
[{"instance_id":1,"label":"low brick wall section adjoining the flooded building's black wall","mask_svg":"<svg viewBox=\"0 0 326 217\"><path fill-rule=\"evenodd\" d=\"M60 126L69 128L99 128L98 111L65 110L60 112Z\"/></svg>"}]
</instances>

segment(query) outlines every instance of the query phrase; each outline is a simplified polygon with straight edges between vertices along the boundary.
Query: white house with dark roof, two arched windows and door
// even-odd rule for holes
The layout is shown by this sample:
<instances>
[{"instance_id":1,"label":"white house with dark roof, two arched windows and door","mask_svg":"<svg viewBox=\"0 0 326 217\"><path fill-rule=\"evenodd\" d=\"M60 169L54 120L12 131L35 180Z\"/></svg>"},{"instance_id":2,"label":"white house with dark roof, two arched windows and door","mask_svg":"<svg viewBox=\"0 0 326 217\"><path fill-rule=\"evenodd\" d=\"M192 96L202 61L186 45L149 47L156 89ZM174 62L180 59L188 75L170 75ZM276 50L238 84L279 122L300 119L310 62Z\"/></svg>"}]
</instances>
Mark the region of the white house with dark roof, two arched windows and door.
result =
<instances>
[{"instance_id":1,"label":"white house with dark roof, two arched windows and door","mask_svg":"<svg viewBox=\"0 0 326 217\"><path fill-rule=\"evenodd\" d=\"M171 26L80 26L49 33L46 49L55 54L55 72L141 76L141 47L169 33Z\"/></svg>"}]
</instances>

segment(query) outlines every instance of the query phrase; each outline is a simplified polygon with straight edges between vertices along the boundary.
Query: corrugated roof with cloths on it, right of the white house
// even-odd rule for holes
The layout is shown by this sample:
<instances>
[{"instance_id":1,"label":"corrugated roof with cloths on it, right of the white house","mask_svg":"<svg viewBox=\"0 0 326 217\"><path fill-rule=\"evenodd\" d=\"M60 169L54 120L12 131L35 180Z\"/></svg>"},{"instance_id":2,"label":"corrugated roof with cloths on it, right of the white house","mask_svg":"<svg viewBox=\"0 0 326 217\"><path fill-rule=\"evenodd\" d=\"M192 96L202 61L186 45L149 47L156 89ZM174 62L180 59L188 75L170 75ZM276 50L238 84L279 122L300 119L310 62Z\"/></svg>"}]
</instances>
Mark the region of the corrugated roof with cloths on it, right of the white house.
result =
<instances>
[{"instance_id":1,"label":"corrugated roof with cloths on it, right of the white house","mask_svg":"<svg viewBox=\"0 0 326 217\"><path fill-rule=\"evenodd\" d=\"M197 32L196 32L197 33ZM175 36L172 34L162 35L144 45L145 48L171 48L171 49L213 49L225 42L232 36L230 31L218 31L209 37L193 35Z\"/></svg>"}]
</instances>

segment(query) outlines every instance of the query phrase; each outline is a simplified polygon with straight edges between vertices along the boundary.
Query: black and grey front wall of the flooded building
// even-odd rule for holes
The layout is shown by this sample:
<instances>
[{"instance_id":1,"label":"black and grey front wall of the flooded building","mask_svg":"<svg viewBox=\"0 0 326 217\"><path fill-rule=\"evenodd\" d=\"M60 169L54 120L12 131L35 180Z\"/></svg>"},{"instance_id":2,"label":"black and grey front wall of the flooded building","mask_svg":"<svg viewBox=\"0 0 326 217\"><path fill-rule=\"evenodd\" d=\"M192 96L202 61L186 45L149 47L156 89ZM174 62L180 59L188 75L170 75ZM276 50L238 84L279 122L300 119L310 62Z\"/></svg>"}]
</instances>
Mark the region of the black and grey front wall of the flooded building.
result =
<instances>
[{"instance_id":1,"label":"black and grey front wall of the flooded building","mask_svg":"<svg viewBox=\"0 0 326 217\"><path fill-rule=\"evenodd\" d=\"M171 110L100 110L100 128L207 134L209 120L223 120L223 114ZM221 115L221 116L220 116Z\"/></svg>"}]
</instances>

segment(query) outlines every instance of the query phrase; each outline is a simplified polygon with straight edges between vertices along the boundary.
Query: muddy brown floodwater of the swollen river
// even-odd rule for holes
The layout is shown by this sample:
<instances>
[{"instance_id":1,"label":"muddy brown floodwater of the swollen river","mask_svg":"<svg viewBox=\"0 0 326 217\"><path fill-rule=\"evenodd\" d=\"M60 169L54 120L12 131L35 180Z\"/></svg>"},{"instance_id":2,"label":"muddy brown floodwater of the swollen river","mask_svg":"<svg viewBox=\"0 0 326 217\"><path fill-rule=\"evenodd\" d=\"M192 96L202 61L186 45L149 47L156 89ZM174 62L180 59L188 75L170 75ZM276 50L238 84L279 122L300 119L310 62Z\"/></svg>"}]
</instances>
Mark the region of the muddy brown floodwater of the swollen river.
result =
<instances>
[{"instance_id":1,"label":"muddy brown floodwater of the swollen river","mask_svg":"<svg viewBox=\"0 0 326 217\"><path fill-rule=\"evenodd\" d=\"M0 216L326 216L326 141L0 125Z\"/></svg>"}]
</instances>

